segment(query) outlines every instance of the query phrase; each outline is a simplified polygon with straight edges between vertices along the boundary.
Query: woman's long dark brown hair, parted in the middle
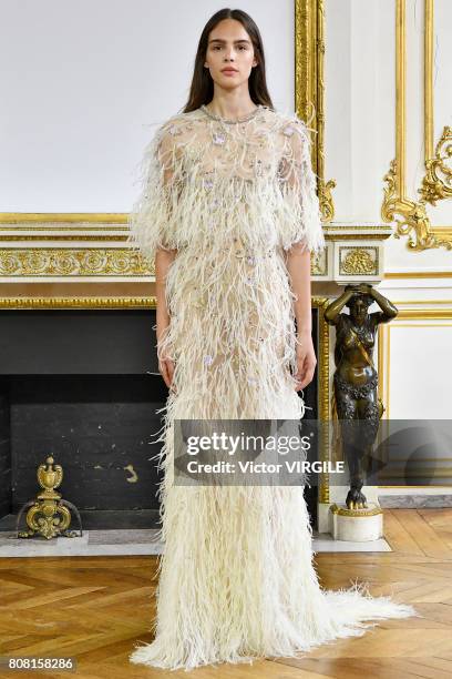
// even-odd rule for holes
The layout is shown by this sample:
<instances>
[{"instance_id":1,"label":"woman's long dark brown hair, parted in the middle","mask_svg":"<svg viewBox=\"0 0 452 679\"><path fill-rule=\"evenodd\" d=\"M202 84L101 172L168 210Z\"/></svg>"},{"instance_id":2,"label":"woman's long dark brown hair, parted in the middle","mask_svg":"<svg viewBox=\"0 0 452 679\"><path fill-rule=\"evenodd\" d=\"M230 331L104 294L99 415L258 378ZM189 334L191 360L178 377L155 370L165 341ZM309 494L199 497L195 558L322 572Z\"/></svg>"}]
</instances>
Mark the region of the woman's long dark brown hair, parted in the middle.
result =
<instances>
[{"instance_id":1,"label":"woman's long dark brown hair, parted in the middle","mask_svg":"<svg viewBox=\"0 0 452 679\"><path fill-rule=\"evenodd\" d=\"M195 111L202 104L208 104L214 97L214 81L208 69L204 67L207 53L208 36L223 19L236 19L239 21L251 39L257 65L253 67L249 74L249 95L255 104L263 104L274 109L271 98L268 93L265 77L264 44L259 29L249 14L242 10L225 8L213 14L203 29L196 52L195 68L192 85L189 88L188 101L183 110L184 113Z\"/></svg>"}]
</instances>

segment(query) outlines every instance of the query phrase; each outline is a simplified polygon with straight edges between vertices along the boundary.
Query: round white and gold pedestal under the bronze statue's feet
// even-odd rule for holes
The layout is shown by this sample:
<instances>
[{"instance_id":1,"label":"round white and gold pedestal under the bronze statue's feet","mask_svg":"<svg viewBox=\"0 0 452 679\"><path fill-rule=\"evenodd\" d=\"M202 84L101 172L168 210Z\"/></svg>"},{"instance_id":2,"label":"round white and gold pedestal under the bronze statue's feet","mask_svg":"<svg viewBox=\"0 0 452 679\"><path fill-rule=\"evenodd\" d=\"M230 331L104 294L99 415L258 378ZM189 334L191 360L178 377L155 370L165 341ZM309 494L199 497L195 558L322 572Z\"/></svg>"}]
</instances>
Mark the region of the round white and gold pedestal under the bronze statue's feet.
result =
<instances>
[{"instance_id":1,"label":"round white and gold pedestal under the bronze statue's feet","mask_svg":"<svg viewBox=\"0 0 452 679\"><path fill-rule=\"evenodd\" d=\"M330 531L335 540L367 543L383 537L383 511L368 503L366 509L348 509L347 505L330 508Z\"/></svg>"}]
</instances>

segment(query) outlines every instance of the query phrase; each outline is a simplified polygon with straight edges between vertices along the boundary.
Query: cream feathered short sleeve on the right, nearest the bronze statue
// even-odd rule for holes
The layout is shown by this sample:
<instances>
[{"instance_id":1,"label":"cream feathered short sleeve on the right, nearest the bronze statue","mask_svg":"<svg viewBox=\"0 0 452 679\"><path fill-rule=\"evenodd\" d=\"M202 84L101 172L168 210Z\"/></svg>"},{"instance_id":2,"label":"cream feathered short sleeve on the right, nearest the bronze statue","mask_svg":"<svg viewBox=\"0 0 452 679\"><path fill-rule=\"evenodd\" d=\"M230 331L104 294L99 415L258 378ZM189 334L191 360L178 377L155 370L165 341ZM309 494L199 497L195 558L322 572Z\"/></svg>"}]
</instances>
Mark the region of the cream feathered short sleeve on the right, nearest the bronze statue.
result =
<instances>
[{"instance_id":1,"label":"cream feathered short sleeve on the right, nearest the bronze statue","mask_svg":"<svg viewBox=\"0 0 452 679\"><path fill-rule=\"evenodd\" d=\"M284 250L304 244L310 252L325 249L316 175L311 163L311 142L306 124L297 115L280 128L284 140L278 181L282 194L280 241Z\"/></svg>"}]
</instances>

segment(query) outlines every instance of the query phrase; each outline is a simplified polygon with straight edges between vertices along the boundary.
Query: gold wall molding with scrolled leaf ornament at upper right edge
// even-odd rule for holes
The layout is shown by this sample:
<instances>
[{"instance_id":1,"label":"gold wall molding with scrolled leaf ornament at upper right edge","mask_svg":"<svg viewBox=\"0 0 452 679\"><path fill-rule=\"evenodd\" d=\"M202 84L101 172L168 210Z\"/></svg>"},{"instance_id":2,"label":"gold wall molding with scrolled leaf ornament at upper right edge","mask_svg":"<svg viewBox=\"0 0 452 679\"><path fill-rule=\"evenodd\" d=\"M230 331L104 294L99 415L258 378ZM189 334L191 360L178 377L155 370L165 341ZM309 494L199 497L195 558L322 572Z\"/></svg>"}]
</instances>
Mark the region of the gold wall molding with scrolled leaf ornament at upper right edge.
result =
<instances>
[{"instance_id":1,"label":"gold wall molding with scrolled leaf ornament at upper right edge","mask_svg":"<svg viewBox=\"0 0 452 679\"><path fill-rule=\"evenodd\" d=\"M408 236L408 247L422 251L452 249L452 225L432 226L427 203L451 197L451 129L444 128L434 154L433 131L433 8L434 0L424 0L424 149L425 176L420 200L407 194L407 0L396 0L396 159L384 175L384 199L381 216L396 222L394 237ZM446 68L446 64L444 64Z\"/></svg>"}]
</instances>

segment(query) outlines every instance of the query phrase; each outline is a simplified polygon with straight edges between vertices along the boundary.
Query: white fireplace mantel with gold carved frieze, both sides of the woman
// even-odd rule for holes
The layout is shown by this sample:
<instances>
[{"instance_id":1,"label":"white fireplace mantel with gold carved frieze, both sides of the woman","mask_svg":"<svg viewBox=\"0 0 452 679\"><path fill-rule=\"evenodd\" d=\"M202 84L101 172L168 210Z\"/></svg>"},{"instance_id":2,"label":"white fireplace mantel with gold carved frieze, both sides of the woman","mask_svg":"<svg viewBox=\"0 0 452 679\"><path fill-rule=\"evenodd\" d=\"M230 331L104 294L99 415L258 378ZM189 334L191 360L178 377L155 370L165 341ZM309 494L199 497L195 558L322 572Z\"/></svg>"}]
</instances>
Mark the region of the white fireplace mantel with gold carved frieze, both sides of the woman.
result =
<instances>
[{"instance_id":1,"label":"white fireplace mantel with gold carved frieze, both sides of the woman","mask_svg":"<svg viewBox=\"0 0 452 679\"><path fill-rule=\"evenodd\" d=\"M76 283L104 290L127 285L129 292L132 284L148 286L154 272L126 244L126 221L124 214L3 213L0 282L9 286ZM315 284L382 280L384 241L392 234L390 225L330 222L323 229L327 247L311 264Z\"/></svg>"}]
</instances>

